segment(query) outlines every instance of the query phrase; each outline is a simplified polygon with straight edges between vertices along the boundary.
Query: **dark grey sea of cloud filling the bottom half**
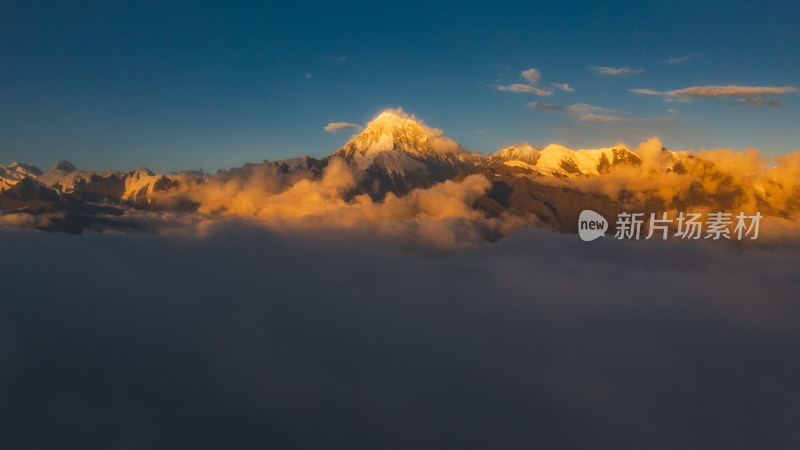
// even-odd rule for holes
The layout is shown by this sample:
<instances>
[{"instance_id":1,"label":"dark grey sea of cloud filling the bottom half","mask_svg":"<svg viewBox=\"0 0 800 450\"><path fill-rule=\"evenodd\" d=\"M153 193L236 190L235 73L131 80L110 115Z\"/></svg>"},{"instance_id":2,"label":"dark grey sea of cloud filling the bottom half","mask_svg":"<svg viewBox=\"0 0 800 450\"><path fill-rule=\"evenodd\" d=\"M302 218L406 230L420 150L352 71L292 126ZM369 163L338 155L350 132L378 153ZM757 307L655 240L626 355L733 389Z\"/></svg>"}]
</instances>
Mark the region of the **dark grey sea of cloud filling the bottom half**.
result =
<instances>
[{"instance_id":1,"label":"dark grey sea of cloud filling the bottom half","mask_svg":"<svg viewBox=\"0 0 800 450\"><path fill-rule=\"evenodd\" d=\"M786 249L528 229L443 255L229 224L0 252L3 448L800 443Z\"/></svg>"}]
</instances>

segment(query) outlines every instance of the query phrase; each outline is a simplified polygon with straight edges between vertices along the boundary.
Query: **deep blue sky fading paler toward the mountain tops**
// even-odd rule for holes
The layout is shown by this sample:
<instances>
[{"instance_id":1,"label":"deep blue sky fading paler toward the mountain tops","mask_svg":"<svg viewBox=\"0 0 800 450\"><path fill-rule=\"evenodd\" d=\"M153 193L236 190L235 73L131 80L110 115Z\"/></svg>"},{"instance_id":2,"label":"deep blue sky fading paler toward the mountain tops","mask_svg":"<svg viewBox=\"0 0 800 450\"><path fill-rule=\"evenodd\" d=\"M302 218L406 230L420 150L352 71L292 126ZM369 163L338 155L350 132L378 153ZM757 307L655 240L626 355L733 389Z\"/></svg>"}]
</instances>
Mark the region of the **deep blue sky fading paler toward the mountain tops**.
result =
<instances>
[{"instance_id":1,"label":"deep blue sky fading paler toward the mountain tops","mask_svg":"<svg viewBox=\"0 0 800 450\"><path fill-rule=\"evenodd\" d=\"M800 148L797 92L765 97L785 102L765 106L752 96L677 102L629 89L796 88L799 23L796 0L5 1L0 162L214 171L321 157L351 133L327 133L327 123L364 124L390 107L478 152L658 136L671 149L788 153ZM530 68L541 73L534 87L551 95L497 89L530 84L520 76ZM620 120L531 102L593 105Z\"/></svg>"}]
</instances>

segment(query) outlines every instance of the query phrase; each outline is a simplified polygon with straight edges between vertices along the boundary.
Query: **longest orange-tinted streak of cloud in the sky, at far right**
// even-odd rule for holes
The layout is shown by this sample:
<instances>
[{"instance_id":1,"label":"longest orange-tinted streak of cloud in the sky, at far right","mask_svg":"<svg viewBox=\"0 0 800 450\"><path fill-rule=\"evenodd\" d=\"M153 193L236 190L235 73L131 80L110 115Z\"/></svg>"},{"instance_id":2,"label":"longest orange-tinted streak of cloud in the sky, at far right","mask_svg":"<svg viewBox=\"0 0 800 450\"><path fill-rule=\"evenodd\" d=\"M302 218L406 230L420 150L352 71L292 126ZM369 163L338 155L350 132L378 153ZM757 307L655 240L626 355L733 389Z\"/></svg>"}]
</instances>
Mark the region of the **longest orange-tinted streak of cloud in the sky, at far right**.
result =
<instances>
[{"instance_id":1,"label":"longest orange-tinted streak of cloud in the sky, at far right","mask_svg":"<svg viewBox=\"0 0 800 450\"><path fill-rule=\"evenodd\" d=\"M656 91L653 89L629 89L634 94L660 95L667 101L689 102L695 98L730 98L737 99L736 104L749 103L762 106L780 106L783 100L767 100L766 97L797 92L793 86L692 86L672 91Z\"/></svg>"}]
</instances>

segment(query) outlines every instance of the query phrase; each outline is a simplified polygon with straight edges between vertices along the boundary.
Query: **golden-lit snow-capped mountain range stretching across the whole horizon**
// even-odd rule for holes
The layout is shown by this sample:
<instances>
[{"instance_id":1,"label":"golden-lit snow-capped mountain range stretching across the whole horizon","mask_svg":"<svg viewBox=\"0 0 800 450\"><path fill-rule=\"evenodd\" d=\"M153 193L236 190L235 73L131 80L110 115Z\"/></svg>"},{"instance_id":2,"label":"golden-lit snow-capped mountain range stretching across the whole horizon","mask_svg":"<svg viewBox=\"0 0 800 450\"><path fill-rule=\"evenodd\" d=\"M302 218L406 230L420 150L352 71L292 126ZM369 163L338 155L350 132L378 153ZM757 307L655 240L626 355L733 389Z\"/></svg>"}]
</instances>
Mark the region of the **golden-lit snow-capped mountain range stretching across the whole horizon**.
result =
<instances>
[{"instance_id":1,"label":"golden-lit snow-capped mountain range stretching across the whole horizon","mask_svg":"<svg viewBox=\"0 0 800 450\"><path fill-rule=\"evenodd\" d=\"M491 182L491 188L474 202L475 210L489 217L535 215L543 226L565 232L576 231L577 216L583 209L612 216L631 208L644 212L692 207L731 209L755 202L766 214L788 217L800 210L796 185L770 184L769 179L742 185L735 174L688 152L660 148L648 154L647 161L643 157L622 145L576 151L559 145L542 148L527 143L480 155L413 117L389 110L325 158L304 155L248 164L243 169L269 166L280 173L318 179L338 158L363 175L350 196L366 194L374 202L381 202L388 193L402 197L414 189L482 174ZM221 171L216 177L230 173ZM678 176L675 179L684 185L674 186L675 192L666 196L651 192L657 183L641 190L631 189L635 183L627 183L607 192L604 183L590 182L607 179L611 184L621 176L635 181L636 177L669 174ZM130 172L84 171L67 161L59 161L43 173L37 167L13 163L0 165L0 209L4 214L33 216L59 213L56 220L51 217L36 226L80 232L123 225L114 217L126 208L174 207L159 203L160 194L185 188L187 183L202 185L209 179L190 172L154 174L145 168ZM780 204L773 204L771 197L780 198ZM182 208L193 209L191 204Z\"/></svg>"}]
</instances>

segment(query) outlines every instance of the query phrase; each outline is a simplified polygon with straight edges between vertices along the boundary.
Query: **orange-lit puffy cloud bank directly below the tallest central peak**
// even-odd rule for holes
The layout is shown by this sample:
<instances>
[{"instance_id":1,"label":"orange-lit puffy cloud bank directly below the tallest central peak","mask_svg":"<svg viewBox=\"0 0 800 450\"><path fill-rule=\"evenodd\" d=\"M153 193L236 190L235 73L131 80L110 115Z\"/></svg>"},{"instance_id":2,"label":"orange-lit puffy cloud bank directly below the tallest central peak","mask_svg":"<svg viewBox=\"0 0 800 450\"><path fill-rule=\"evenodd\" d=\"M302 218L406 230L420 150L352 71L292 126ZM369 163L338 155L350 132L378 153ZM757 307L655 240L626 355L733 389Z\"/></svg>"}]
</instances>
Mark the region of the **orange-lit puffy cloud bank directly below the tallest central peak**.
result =
<instances>
[{"instance_id":1,"label":"orange-lit puffy cloud bank directly below the tallest central peak","mask_svg":"<svg viewBox=\"0 0 800 450\"><path fill-rule=\"evenodd\" d=\"M220 173L203 184L186 180L181 189L163 193L158 202L168 210L187 202L197 204L199 218L189 217L194 224L187 229L201 233L219 221L243 218L278 231L358 230L431 248L461 248L536 221L487 218L473 209L490 187L483 175L445 181L402 197L389 193L380 203L367 195L348 195L360 176L338 158L318 179L310 172L289 174L272 164L254 164ZM161 228L160 216L156 219L154 226ZM173 219L169 215L163 220Z\"/></svg>"}]
</instances>

